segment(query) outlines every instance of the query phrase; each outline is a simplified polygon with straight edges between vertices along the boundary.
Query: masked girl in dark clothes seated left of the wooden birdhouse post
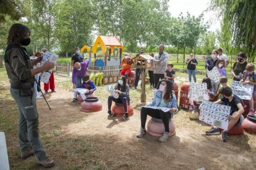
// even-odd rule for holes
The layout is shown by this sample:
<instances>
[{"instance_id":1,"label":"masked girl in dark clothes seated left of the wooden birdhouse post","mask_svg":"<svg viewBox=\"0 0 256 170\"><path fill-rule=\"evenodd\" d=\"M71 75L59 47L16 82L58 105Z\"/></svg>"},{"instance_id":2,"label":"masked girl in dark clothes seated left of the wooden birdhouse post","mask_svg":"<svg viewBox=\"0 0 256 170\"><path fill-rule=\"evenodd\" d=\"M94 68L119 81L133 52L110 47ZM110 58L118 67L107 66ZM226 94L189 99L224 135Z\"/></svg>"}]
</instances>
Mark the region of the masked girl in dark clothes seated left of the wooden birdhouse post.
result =
<instances>
[{"instance_id":1,"label":"masked girl in dark clothes seated left of the wooden birdhouse post","mask_svg":"<svg viewBox=\"0 0 256 170\"><path fill-rule=\"evenodd\" d=\"M112 101L116 103L122 103L124 106L124 115L122 118L124 120L129 119L128 115L128 103L130 102L130 97L129 97L129 85L126 83L126 77L125 76L120 76L118 79L118 83L116 86L114 86L115 92L119 94L119 97L115 99L113 95L109 95L108 97L108 114L109 116L113 117L113 113L111 111L111 105Z\"/></svg>"}]
</instances>

